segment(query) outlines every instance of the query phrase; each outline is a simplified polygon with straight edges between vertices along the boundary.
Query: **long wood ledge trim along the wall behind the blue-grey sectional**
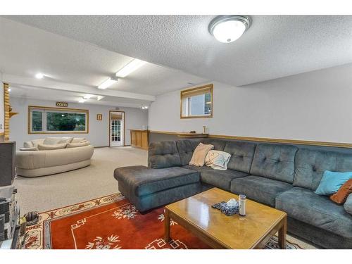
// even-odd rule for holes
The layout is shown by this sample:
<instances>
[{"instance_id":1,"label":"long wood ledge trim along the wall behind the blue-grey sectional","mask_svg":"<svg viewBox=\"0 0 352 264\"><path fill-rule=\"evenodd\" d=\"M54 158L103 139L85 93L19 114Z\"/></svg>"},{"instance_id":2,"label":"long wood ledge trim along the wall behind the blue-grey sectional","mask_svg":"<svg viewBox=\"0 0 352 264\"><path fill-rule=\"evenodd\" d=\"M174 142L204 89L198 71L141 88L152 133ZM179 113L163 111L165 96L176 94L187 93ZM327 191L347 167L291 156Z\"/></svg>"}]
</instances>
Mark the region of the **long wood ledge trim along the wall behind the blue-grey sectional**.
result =
<instances>
[{"instance_id":1,"label":"long wood ledge trim along the wall behind the blue-grey sectional","mask_svg":"<svg viewBox=\"0 0 352 264\"><path fill-rule=\"evenodd\" d=\"M168 132L168 131L156 131L150 130L150 133L155 134L170 134L177 135L180 132ZM308 145L308 146L332 146L344 149L352 149L352 143L339 143L339 142L318 142L313 140L301 140L301 139L271 139L268 137L239 137L230 136L225 134L209 134L208 137L216 139L236 139L249 142L263 142L263 143L279 143L279 144L297 144L297 145Z\"/></svg>"}]
</instances>

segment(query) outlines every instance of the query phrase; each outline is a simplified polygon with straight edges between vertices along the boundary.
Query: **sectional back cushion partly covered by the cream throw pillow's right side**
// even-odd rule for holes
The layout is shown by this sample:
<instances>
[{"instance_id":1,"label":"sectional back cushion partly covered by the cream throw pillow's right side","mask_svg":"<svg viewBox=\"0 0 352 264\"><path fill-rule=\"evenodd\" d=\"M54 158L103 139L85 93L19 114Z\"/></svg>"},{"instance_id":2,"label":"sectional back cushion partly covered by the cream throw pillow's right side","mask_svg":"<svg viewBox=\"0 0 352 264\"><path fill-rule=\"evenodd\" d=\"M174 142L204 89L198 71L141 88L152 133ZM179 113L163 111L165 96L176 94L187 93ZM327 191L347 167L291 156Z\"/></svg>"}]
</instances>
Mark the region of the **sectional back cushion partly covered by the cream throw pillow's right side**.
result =
<instances>
[{"instance_id":1,"label":"sectional back cushion partly covered by the cream throw pillow's right side","mask_svg":"<svg viewBox=\"0 0 352 264\"><path fill-rule=\"evenodd\" d=\"M249 173L256 144L249 142L227 142L224 151L231 154L227 168Z\"/></svg>"}]
</instances>

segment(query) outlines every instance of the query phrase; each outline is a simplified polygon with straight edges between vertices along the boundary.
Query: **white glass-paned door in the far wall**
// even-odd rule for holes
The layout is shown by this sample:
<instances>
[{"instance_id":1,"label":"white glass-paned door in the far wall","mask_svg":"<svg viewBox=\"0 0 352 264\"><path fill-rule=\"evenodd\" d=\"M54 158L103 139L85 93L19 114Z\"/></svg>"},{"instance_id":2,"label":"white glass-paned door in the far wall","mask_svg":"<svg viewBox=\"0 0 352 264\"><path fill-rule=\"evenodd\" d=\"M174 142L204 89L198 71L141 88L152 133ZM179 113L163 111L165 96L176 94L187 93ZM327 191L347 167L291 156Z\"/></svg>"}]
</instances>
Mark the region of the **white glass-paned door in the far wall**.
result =
<instances>
[{"instance_id":1,"label":"white glass-paned door in the far wall","mask_svg":"<svg viewBox=\"0 0 352 264\"><path fill-rule=\"evenodd\" d=\"M110 146L124 146L125 113L110 111Z\"/></svg>"}]
</instances>

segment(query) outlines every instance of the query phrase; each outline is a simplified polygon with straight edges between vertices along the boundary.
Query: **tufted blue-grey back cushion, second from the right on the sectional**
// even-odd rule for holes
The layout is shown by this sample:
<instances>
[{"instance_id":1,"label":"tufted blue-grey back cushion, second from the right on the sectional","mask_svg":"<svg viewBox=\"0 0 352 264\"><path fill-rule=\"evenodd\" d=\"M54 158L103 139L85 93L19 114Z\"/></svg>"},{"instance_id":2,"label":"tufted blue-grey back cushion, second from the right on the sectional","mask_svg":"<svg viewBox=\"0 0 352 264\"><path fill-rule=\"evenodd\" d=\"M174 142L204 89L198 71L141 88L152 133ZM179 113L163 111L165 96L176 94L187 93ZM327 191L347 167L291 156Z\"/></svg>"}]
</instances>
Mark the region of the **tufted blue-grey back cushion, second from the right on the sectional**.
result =
<instances>
[{"instance_id":1,"label":"tufted blue-grey back cushion, second from the right on the sectional","mask_svg":"<svg viewBox=\"0 0 352 264\"><path fill-rule=\"evenodd\" d=\"M291 145L258 144L251 174L282 182L294 182L294 157L298 148Z\"/></svg>"}]
</instances>

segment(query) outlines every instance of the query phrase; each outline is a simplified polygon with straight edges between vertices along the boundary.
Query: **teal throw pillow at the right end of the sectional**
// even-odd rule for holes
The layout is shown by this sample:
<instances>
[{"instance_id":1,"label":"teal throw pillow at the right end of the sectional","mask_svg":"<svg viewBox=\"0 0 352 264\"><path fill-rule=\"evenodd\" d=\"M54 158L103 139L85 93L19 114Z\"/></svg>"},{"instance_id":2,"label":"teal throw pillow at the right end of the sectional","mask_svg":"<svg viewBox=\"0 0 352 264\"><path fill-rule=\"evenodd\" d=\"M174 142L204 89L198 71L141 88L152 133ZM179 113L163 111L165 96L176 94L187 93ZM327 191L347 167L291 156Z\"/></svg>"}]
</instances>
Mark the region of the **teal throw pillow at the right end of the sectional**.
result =
<instances>
[{"instance_id":1,"label":"teal throw pillow at the right end of the sectional","mask_svg":"<svg viewBox=\"0 0 352 264\"><path fill-rule=\"evenodd\" d=\"M314 191L319 195L331 195L339 191L345 182L352 179L352 172L331 172L325 170L318 188Z\"/></svg>"}]
</instances>

